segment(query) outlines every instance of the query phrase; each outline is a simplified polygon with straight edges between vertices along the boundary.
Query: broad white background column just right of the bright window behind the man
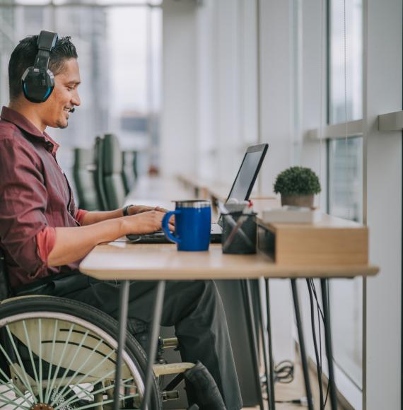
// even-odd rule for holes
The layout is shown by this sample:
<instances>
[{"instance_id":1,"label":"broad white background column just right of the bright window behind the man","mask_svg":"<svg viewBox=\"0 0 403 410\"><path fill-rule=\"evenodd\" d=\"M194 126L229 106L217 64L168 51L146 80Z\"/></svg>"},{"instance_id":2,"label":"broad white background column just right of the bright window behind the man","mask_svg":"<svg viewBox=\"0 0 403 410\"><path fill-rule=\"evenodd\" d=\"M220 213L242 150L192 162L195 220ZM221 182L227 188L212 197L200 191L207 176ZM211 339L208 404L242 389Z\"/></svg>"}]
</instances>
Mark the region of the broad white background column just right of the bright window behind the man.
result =
<instances>
[{"instance_id":1,"label":"broad white background column just right of the bright window behind the man","mask_svg":"<svg viewBox=\"0 0 403 410\"><path fill-rule=\"evenodd\" d=\"M197 169L196 9L196 1L163 2L163 175L189 174Z\"/></svg>"}]
</instances>

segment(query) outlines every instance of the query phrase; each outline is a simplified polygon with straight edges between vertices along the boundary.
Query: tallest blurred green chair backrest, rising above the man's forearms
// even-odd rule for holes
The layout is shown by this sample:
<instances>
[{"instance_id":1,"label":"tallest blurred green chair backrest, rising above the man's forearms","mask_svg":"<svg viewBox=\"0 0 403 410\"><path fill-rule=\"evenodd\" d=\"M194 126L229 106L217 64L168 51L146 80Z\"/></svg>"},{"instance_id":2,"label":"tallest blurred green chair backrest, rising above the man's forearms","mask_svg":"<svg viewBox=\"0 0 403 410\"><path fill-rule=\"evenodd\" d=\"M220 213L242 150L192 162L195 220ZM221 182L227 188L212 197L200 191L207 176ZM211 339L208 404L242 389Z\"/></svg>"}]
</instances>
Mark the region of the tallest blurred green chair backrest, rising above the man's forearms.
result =
<instances>
[{"instance_id":1,"label":"tallest blurred green chair backrest, rising above the man's forearms","mask_svg":"<svg viewBox=\"0 0 403 410\"><path fill-rule=\"evenodd\" d=\"M105 134L103 139L103 182L109 209L123 206L126 192L122 178L122 151L114 134Z\"/></svg>"}]
</instances>

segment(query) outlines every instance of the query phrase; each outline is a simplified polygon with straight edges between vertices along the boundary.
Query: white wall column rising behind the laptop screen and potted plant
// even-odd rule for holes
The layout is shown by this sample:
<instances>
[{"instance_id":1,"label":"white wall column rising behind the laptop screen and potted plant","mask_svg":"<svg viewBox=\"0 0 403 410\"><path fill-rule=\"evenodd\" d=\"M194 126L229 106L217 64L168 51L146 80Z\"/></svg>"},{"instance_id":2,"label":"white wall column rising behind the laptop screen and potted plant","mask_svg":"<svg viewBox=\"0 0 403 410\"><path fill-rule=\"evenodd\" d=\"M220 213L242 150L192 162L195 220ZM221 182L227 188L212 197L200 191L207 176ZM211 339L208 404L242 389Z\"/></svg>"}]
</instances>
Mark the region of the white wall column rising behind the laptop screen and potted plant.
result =
<instances>
[{"instance_id":1,"label":"white wall column rising behind the laptop screen and potted plant","mask_svg":"<svg viewBox=\"0 0 403 410\"><path fill-rule=\"evenodd\" d=\"M292 165L291 1L260 1L261 142L269 143L260 171L262 194L272 194L276 175ZM274 359L293 360L293 310L289 281L271 280Z\"/></svg>"}]
</instances>

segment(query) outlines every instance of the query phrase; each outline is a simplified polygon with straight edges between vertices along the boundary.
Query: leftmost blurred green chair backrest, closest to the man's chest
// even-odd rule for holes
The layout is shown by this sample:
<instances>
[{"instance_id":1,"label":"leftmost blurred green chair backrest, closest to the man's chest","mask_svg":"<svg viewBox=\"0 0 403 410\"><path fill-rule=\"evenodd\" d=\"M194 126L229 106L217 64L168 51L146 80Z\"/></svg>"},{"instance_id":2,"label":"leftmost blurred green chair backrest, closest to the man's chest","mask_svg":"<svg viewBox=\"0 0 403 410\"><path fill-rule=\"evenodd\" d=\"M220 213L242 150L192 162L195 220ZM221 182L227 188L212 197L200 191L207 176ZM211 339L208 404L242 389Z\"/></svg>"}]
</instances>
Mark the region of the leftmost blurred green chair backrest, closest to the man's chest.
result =
<instances>
[{"instance_id":1,"label":"leftmost blurred green chair backrest, closest to the man's chest","mask_svg":"<svg viewBox=\"0 0 403 410\"><path fill-rule=\"evenodd\" d=\"M87 211L101 208L93 175L96 170L94 159L94 148L74 149L73 176L78 206Z\"/></svg>"}]
</instances>

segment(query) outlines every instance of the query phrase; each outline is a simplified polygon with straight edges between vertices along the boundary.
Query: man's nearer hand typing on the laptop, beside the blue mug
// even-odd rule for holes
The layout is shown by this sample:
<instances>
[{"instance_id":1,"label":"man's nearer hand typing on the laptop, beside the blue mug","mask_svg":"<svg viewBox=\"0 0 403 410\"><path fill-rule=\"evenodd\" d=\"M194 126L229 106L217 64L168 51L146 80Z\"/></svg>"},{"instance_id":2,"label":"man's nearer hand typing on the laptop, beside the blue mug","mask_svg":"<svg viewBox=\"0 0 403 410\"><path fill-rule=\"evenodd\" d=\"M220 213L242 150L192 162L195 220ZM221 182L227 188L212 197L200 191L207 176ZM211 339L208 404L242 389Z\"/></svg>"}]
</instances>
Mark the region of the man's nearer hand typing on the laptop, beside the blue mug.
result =
<instances>
[{"instance_id":1,"label":"man's nearer hand typing on the laptop, beside the blue mug","mask_svg":"<svg viewBox=\"0 0 403 410\"><path fill-rule=\"evenodd\" d=\"M134 206L132 206L134 208ZM123 218L125 235L134 234L142 235L144 233L153 233L162 229L162 222L165 212L156 211L142 211L134 215L129 215ZM175 226L170 221L168 228L174 230Z\"/></svg>"}]
</instances>

